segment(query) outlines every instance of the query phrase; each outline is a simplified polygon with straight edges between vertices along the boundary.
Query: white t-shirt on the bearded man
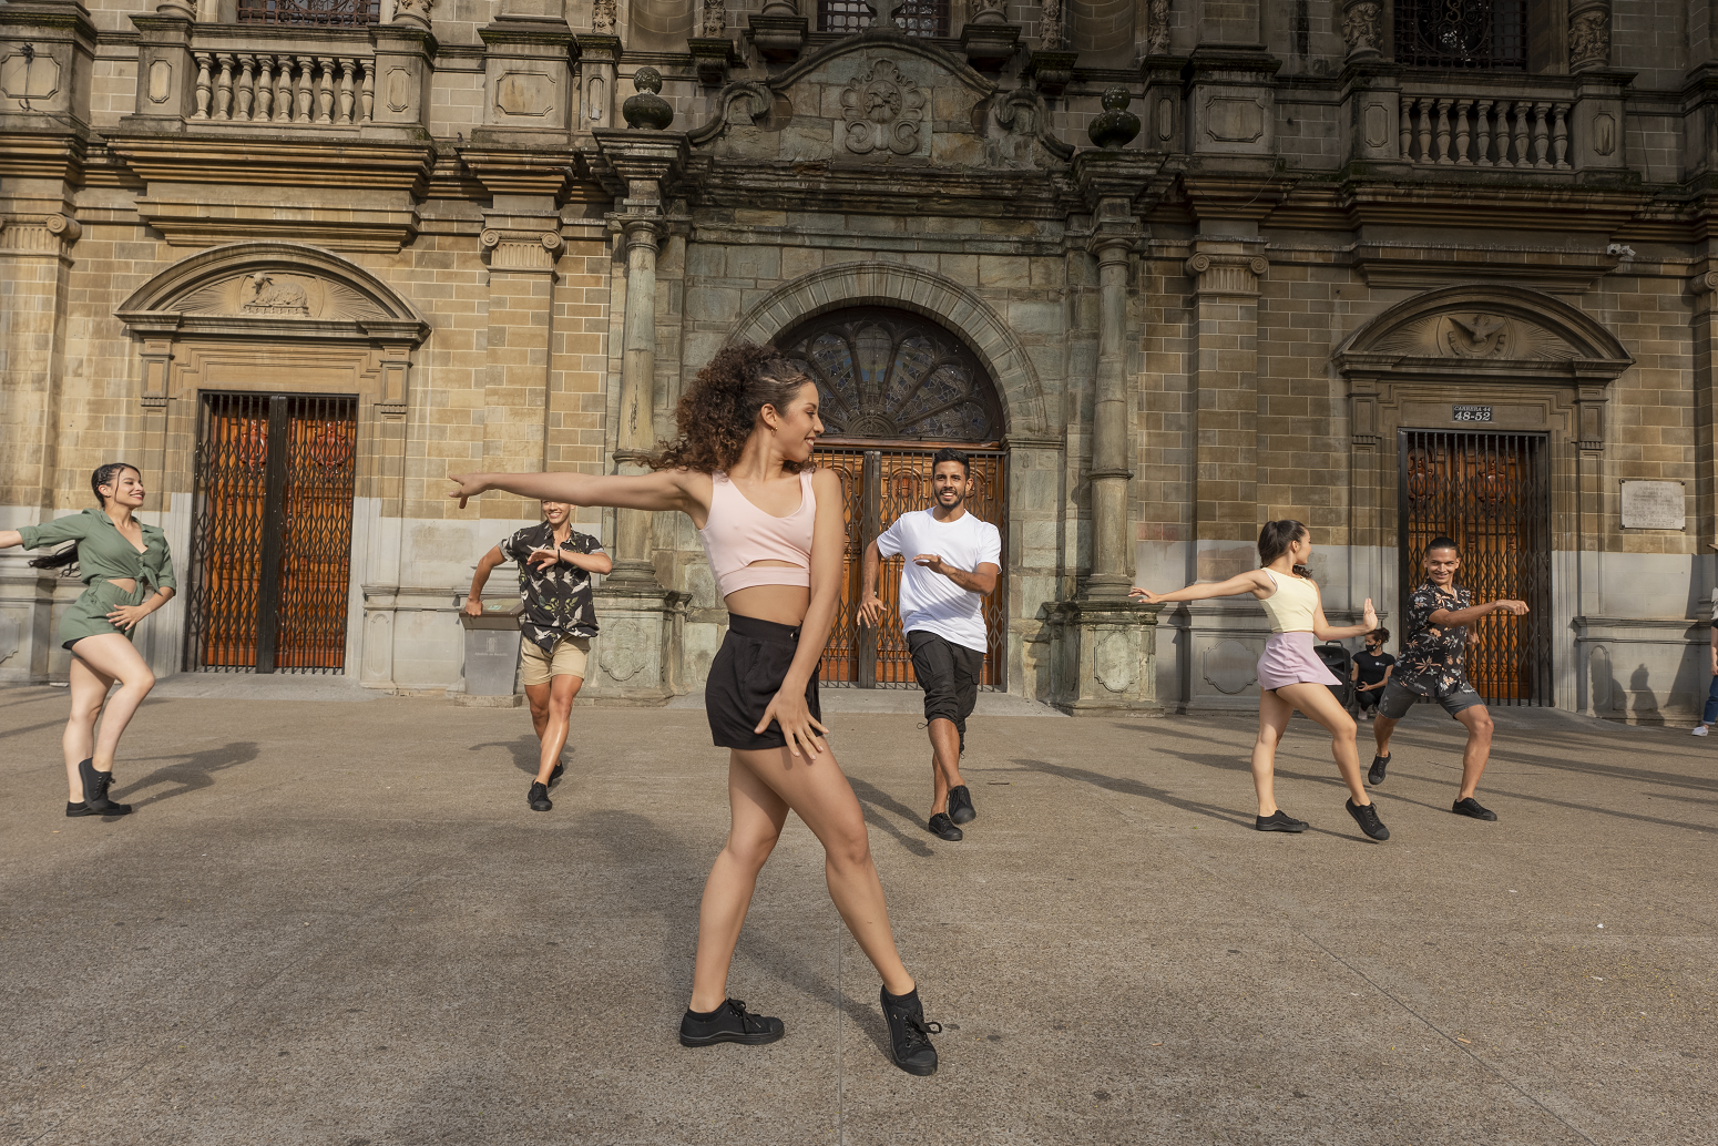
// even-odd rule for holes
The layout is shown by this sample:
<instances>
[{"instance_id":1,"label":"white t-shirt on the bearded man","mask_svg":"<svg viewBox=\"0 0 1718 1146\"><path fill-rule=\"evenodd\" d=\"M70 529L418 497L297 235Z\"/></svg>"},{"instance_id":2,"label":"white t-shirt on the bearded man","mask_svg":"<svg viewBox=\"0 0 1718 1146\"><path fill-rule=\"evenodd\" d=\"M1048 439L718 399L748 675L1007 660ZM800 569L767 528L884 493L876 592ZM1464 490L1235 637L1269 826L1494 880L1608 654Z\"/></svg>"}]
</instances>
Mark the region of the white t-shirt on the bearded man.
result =
<instances>
[{"instance_id":1,"label":"white t-shirt on the bearded man","mask_svg":"<svg viewBox=\"0 0 1718 1146\"><path fill-rule=\"evenodd\" d=\"M883 557L904 553L905 569L900 574L900 629L902 632L935 632L945 641L969 649L984 651L984 598L962 589L940 572L914 565L919 553L935 553L945 565L976 572L981 564L1002 569L1002 534L996 526L979 521L971 512L943 522L921 509L902 514L895 524L876 539Z\"/></svg>"}]
</instances>

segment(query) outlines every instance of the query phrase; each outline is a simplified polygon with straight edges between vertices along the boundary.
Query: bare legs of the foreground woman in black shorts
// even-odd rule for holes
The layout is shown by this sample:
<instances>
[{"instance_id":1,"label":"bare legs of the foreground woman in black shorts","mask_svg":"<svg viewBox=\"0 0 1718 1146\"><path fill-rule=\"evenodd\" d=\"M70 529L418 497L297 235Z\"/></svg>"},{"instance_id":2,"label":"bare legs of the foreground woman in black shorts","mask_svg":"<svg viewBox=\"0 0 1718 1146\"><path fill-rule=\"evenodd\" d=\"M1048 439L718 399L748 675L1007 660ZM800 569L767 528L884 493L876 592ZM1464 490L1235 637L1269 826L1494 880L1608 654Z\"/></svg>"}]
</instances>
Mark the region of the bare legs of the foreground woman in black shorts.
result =
<instances>
[{"instance_id":1,"label":"bare legs of the foreground woman in black shorts","mask_svg":"<svg viewBox=\"0 0 1718 1146\"><path fill-rule=\"evenodd\" d=\"M728 842L710 869L698 909L691 1009L710 1012L727 998L728 964L734 962L734 945L751 907L758 871L770 859L789 811L799 814L823 844L830 899L859 948L883 976L883 986L890 995L909 993L912 976L895 950L864 813L828 742L819 756L809 759L794 758L785 747L756 753L732 749L728 806L734 814Z\"/></svg>"}]
</instances>

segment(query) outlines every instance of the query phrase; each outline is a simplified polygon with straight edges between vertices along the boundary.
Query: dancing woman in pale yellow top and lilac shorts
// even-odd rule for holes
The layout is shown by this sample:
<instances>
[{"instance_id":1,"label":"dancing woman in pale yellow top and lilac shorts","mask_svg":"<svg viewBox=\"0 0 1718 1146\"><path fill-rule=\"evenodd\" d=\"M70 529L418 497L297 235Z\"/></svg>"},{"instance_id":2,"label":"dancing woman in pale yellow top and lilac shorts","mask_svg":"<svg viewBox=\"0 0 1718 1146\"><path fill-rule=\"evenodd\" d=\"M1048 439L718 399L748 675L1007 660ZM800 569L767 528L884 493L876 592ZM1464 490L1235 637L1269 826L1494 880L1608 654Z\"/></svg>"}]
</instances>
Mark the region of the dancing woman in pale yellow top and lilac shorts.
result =
<instances>
[{"instance_id":1,"label":"dancing woman in pale yellow top and lilac shorts","mask_svg":"<svg viewBox=\"0 0 1718 1146\"><path fill-rule=\"evenodd\" d=\"M1252 787L1259 795L1259 814L1254 825L1259 832L1306 832L1306 821L1295 820L1276 806L1273 773L1276 744L1294 710L1301 710L1330 730L1330 751L1337 758L1342 782L1349 785L1349 814L1361 832L1374 840L1388 840L1390 828L1378 820L1378 809L1361 783L1361 756L1354 747L1354 718L1337 703L1326 687L1340 684L1313 651L1313 639L1342 641L1361 637L1378 627L1373 600L1366 598L1364 624L1333 627L1325 620L1325 607L1313 582L1307 560L1313 557L1313 534L1297 521L1268 521L1259 529L1259 565L1228 581L1191 584L1173 593L1134 589L1132 596L1151 603L1203 601L1211 596L1237 596L1251 593L1271 619L1271 637L1259 656L1259 739L1252 744Z\"/></svg>"}]
</instances>

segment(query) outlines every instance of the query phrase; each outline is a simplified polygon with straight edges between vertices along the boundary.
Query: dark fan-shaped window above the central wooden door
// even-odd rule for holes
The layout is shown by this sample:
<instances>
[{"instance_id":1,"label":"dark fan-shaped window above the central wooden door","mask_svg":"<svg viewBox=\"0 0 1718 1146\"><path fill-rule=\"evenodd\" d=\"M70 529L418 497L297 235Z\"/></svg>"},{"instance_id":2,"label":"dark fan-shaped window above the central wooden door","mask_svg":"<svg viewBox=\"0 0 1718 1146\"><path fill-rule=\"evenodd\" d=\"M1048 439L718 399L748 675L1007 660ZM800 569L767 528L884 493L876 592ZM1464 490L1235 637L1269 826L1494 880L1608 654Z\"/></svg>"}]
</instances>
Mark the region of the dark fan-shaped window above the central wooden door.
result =
<instances>
[{"instance_id":1,"label":"dark fan-shaped window above the central wooden door","mask_svg":"<svg viewBox=\"0 0 1718 1146\"><path fill-rule=\"evenodd\" d=\"M833 438L995 442L990 373L941 326L892 308L835 311L777 342L816 380Z\"/></svg>"}]
</instances>

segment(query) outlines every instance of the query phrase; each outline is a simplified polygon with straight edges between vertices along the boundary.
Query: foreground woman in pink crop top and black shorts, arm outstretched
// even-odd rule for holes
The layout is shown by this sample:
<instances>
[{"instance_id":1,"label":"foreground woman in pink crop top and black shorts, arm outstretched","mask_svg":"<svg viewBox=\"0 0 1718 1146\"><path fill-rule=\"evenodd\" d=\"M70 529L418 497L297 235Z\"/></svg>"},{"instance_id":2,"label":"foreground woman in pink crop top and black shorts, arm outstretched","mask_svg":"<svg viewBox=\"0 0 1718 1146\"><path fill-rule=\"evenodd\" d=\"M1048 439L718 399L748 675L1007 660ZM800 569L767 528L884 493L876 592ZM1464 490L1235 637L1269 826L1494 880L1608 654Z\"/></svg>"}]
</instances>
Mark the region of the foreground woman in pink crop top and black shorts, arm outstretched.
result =
<instances>
[{"instance_id":1,"label":"foreground woman in pink crop top and black shorts, arm outstretched","mask_svg":"<svg viewBox=\"0 0 1718 1146\"><path fill-rule=\"evenodd\" d=\"M486 490L527 498L679 510L698 526L728 608L710 667L704 711L728 749L732 826L698 912L692 998L680 1043L773 1043L780 1019L727 997L728 964L758 871L787 813L825 850L830 899L883 978L890 1053L909 1074L936 1070L917 988L895 950L864 814L823 741L818 661L835 622L847 526L840 478L811 469L823 423L818 388L775 347L723 347L680 399L679 435L643 476L457 474L448 495Z\"/></svg>"}]
</instances>

